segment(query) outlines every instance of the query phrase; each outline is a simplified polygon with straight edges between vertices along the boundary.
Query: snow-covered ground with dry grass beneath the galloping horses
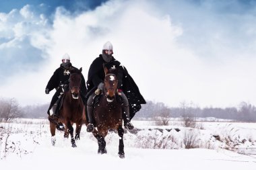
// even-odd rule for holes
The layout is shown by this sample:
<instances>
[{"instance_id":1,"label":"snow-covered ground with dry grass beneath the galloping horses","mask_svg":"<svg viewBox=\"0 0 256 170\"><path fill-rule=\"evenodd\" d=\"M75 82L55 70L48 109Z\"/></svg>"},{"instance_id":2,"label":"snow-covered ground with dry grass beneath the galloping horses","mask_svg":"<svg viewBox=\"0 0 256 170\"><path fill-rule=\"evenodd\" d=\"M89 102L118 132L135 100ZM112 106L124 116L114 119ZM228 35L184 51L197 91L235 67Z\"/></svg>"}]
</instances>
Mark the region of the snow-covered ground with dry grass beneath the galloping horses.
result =
<instances>
[{"instance_id":1,"label":"snow-covered ground with dry grass beneath the galloping horses","mask_svg":"<svg viewBox=\"0 0 256 170\"><path fill-rule=\"evenodd\" d=\"M255 148L256 124L203 122L203 129L154 126L133 121L137 128L124 134L125 159L117 155L119 136L106 136L105 155L98 155L98 144L82 127L81 140L72 148L63 132L51 144L47 120L18 120L0 123L1 169L256 169L256 155L241 155L240 148ZM200 148L185 149L189 134ZM191 137L191 136L190 136ZM193 139L192 138L192 139ZM155 148L155 149L154 149ZM162 149L156 149L162 148ZM209 149L210 148L210 149ZM232 151L228 151L232 150Z\"/></svg>"}]
</instances>

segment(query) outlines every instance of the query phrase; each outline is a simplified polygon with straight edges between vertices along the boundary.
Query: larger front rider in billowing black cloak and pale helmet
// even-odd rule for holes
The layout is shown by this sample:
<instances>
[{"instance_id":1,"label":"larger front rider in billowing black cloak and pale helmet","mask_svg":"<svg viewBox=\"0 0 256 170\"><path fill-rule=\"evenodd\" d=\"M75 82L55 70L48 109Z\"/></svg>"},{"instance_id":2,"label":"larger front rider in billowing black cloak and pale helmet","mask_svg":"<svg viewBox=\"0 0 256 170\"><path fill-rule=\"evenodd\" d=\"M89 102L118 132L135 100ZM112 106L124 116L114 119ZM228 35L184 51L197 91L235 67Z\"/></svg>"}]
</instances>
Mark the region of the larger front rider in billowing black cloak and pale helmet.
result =
<instances>
[{"instance_id":1,"label":"larger front rider in billowing black cloak and pale helmet","mask_svg":"<svg viewBox=\"0 0 256 170\"><path fill-rule=\"evenodd\" d=\"M121 63L112 56L113 45L110 42L106 42L102 49L102 54L98 56L90 66L88 72L88 101L87 101L87 114L88 114L88 126L87 131L92 132L94 129L94 117L93 117L93 105L95 95L100 95L104 86L104 65L112 65L119 68L119 84L118 92L121 93L123 100L123 122L125 128L132 130L133 124L130 120L135 113L140 110L141 104L146 103L142 95L139 93L139 89L131 76L128 74L125 67L121 66Z\"/></svg>"}]
</instances>

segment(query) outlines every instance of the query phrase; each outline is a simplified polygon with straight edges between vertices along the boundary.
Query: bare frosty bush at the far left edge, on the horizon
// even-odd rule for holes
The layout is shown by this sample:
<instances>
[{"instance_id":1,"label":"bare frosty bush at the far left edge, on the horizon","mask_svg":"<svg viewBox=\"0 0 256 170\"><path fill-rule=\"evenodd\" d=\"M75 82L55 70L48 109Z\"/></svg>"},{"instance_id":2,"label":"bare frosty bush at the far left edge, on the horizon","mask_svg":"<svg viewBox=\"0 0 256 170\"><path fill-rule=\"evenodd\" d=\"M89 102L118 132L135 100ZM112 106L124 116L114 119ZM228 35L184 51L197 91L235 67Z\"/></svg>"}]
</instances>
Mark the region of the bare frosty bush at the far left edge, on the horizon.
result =
<instances>
[{"instance_id":1,"label":"bare frosty bush at the far left edge, on the horizon","mask_svg":"<svg viewBox=\"0 0 256 170\"><path fill-rule=\"evenodd\" d=\"M1 122L11 122L14 118L20 118L22 111L18 101L14 98L0 99L0 120Z\"/></svg>"}]
</instances>

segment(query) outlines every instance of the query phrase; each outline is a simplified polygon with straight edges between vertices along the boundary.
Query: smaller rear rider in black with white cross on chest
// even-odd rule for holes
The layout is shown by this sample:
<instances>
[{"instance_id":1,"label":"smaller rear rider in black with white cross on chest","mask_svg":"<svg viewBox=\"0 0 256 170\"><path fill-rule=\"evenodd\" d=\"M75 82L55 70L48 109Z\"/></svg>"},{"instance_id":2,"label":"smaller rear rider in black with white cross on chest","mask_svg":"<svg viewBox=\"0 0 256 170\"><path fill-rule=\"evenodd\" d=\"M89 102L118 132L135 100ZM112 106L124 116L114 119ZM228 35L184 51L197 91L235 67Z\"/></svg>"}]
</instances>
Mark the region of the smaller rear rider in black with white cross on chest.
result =
<instances>
[{"instance_id":1,"label":"smaller rear rider in black with white cross on chest","mask_svg":"<svg viewBox=\"0 0 256 170\"><path fill-rule=\"evenodd\" d=\"M64 54L62 57L62 63L58 69L53 73L53 76L49 80L48 84L46 85L45 93L49 94L49 92L53 89L56 89L55 94L53 95L53 99L51 100L49 109L47 111L47 114L51 116L51 120L53 123L57 124L57 119L59 118L59 112L57 110L57 105L59 104L59 101L62 97L62 94L67 91L67 86L69 85L69 75L70 70L76 69L72 66L70 62L70 56L69 54ZM84 102L85 101L85 95L86 95L86 81L84 80L84 77L82 76L82 82L81 82L81 97ZM49 119L50 120L50 119ZM51 121L50 120L50 121ZM57 124L57 129L63 130L63 124L59 123Z\"/></svg>"}]
</instances>

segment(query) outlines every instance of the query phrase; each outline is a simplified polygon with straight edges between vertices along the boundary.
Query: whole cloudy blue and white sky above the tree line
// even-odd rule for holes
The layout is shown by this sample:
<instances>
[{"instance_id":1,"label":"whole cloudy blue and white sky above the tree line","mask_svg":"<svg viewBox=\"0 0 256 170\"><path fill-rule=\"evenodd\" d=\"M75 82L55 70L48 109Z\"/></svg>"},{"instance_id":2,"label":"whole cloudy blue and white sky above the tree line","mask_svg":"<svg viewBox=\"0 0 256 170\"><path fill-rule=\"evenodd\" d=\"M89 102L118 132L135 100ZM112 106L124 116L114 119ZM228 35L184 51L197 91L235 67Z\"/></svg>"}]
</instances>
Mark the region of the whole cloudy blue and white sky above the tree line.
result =
<instances>
[{"instance_id":1,"label":"whole cloudy blue and white sky above the tree line","mask_svg":"<svg viewBox=\"0 0 256 170\"><path fill-rule=\"evenodd\" d=\"M1 1L0 97L49 103L66 52L88 75L105 42L146 100L256 105L256 1Z\"/></svg>"}]
</instances>

